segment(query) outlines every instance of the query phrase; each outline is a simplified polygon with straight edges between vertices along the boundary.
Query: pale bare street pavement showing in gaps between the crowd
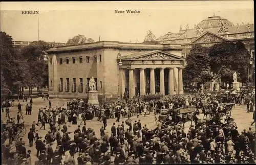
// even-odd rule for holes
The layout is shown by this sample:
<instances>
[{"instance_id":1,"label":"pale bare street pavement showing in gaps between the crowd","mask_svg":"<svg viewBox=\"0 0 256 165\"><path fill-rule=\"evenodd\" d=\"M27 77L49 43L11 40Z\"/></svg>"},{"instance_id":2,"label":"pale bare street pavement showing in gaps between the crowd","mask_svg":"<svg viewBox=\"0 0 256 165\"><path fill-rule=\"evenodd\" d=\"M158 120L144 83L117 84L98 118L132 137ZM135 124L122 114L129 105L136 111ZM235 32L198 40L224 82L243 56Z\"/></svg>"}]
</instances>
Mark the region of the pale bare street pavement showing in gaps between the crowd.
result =
<instances>
[{"instance_id":1,"label":"pale bare street pavement showing in gaps between the crowd","mask_svg":"<svg viewBox=\"0 0 256 165\"><path fill-rule=\"evenodd\" d=\"M56 107L56 106L62 106L63 104L65 104L66 107L66 103L68 100L60 100L60 99L51 99L52 102L52 107ZM10 116L11 117L15 117L17 116L17 107L16 105L18 104L18 102L14 103L14 107L10 108ZM33 121L37 122L37 115L38 115L38 109L39 108L44 108L44 107L48 107L49 106L49 101L44 101L41 98L36 98L33 99L33 108L32 108L32 115L26 115L26 112L24 112L25 110L25 106L26 106L26 102L20 102L20 104L22 104L22 109L23 109L23 116L24 116L24 121L25 121L25 125L27 128L27 133L26 135L23 137L23 140L26 142L26 148L27 150L31 150L32 154L32 162L34 162L36 160L36 149L35 146L33 147L29 147L29 140L27 138L27 134L29 129L31 128L31 125L33 123ZM199 116L199 119L203 118L203 114L201 113ZM242 105L239 106L238 104L236 105L236 107L233 107L231 110L231 117L234 119L234 122L236 122L237 127L238 127L238 131L241 132L244 129L248 129L250 127L250 123L252 122L252 113L246 113L246 106ZM133 116L131 117L133 123L135 121L138 121L137 116ZM139 119L141 120L141 124L144 126L144 124L147 125L147 127L149 129L155 129L156 128L156 122L155 122L155 117L154 114L151 113L150 115L146 115L146 117L144 117L144 115L139 116ZM7 117L5 117L5 112L2 112L2 120L4 122L6 122ZM111 126L113 125L113 123L116 123L117 125L121 125L122 121L125 121L126 119L120 119L120 122L116 122L115 119L109 119L108 120L108 126L106 127L106 131L108 131L109 136L111 135ZM78 124L80 124L81 120L78 120ZM83 125L83 124L82 124ZM40 128L40 124L39 126L36 126L36 130L39 130ZM70 135L71 138L74 137L74 130L77 128L78 125L71 125L70 127L68 127L68 131L72 132ZM97 118L94 118L92 121L87 121L87 128L93 128L96 134L96 137L100 137L100 132L99 129L102 126L102 122L97 121ZM190 126L190 122L185 123L185 132L188 131L188 128ZM82 126L81 126L82 127ZM128 128L126 126L126 128ZM47 133L47 131L49 130L49 124L46 124L46 130L39 130L38 134L39 136L42 136L42 138L45 138L45 135ZM255 131L255 126L252 126L252 130ZM53 144L53 149L56 148L56 141ZM76 155L77 156L77 155Z\"/></svg>"}]
</instances>

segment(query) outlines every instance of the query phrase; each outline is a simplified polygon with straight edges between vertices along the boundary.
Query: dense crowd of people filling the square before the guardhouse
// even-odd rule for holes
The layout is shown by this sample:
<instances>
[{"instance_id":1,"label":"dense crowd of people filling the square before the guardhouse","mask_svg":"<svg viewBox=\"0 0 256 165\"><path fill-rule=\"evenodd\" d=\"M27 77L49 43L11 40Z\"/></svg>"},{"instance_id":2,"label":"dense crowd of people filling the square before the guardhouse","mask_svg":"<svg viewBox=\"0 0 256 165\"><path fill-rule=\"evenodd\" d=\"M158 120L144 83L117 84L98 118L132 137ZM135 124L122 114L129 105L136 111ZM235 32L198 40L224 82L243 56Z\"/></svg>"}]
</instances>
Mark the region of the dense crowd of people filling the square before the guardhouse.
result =
<instances>
[{"instance_id":1,"label":"dense crowd of people filling the square before the guardhouse","mask_svg":"<svg viewBox=\"0 0 256 165\"><path fill-rule=\"evenodd\" d=\"M254 104L254 95L248 91L241 91L239 95L229 93L224 98L221 96L167 96L149 101L127 100L125 103L105 103L100 106L72 100L56 108L52 108L49 101L49 107L39 109L38 120L33 122L27 135L30 147L35 142L38 160L32 163L31 150L26 150L23 142L26 137L15 139L16 151L10 151L17 133L15 121L11 117L7 121L9 144L5 144L7 137L2 133L3 158L6 164L23 165L254 163L255 132L252 128L238 132L238 128L229 122L212 119L199 120L191 124L186 132L180 125L164 125L157 117L161 109L175 110L185 106L199 109L209 102ZM140 120L150 113L155 114L156 129L148 128ZM130 119L132 116L138 119L133 122ZM87 127L87 122L94 117L102 122L100 130ZM111 123L109 134L106 127L110 127L108 119L111 118L116 119L116 122ZM50 128L45 137L40 136L36 130L39 124L39 129ZM71 130L70 125L77 125L77 128ZM99 138L95 131L100 132Z\"/></svg>"}]
</instances>

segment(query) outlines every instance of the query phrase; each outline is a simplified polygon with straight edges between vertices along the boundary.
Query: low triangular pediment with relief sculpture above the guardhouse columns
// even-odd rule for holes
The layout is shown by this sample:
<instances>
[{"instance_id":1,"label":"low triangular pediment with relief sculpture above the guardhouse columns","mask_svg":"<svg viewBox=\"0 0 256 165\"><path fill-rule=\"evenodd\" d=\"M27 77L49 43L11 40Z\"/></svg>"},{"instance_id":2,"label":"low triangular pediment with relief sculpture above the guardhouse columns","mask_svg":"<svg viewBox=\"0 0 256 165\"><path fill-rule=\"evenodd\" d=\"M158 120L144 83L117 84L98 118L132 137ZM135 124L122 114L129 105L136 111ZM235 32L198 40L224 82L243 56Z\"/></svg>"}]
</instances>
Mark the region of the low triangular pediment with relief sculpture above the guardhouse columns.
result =
<instances>
[{"instance_id":1,"label":"low triangular pediment with relief sculpture above the guardhouse columns","mask_svg":"<svg viewBox=\"0 0 256 165\"><path fill-rule=\"evenodd\" d=\"M124 57L124 59L161 59L161 60L167 60L167 59L178 59L178 60L183 60L182 57L176 56L174 54L170 54L168 52L164 52L164 51L146 51L146 52L136 52L133 53L131 55L128 55L126 57Z\"/></svg>"}]
</instances>

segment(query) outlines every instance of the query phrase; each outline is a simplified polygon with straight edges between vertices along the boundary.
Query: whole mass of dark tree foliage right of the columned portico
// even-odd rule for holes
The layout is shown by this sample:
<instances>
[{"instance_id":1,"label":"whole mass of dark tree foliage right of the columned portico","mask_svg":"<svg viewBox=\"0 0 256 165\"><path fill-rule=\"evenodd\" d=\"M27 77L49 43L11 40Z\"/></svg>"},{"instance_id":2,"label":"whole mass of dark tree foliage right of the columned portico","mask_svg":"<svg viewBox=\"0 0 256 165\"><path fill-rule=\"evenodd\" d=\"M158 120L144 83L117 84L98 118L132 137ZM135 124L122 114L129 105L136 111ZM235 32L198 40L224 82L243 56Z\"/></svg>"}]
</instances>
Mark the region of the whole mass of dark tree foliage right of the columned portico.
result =
<instances>
[{"instance_id":1,"label":"whole mass of dark tree foliage right of the columned portico","mask_svg":"<svg viewBox=\"0 0 256 165\"><path fill-rule=\"evenodd\" d=\"M211 47L194 45L186 57L184 81L206 83L221 79L222 82L231 83L233 73L237 72L238 81L247 82L249 61L250 54L240 41Z\"/></svg>"}]
</instances>

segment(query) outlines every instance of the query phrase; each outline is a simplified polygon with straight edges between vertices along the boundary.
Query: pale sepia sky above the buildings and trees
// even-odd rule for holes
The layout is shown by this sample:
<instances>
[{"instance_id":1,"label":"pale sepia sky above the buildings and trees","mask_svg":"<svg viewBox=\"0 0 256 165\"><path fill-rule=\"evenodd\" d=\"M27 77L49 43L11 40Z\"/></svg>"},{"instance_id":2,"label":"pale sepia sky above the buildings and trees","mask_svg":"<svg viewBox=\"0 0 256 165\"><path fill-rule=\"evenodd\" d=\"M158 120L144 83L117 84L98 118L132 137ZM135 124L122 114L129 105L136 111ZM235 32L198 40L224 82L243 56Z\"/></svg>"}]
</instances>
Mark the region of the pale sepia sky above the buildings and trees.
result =
<instances>
[{"instance_id":1,"label":"pale sepia sky above the buildings and trees","mask_svg":"<svg viewBox=\"0 0 256 165\"><path fill-rule=\"evenodd\" d=\"M143 42L151 30L156 37L179 32L209 16L221 16L234 25L253 23L253 1L154 2L1 2L1 31L16 41L67 42L78 34L95 41ZM39 11L25 15L22 11ZM137 14L115 14L137 10ZM38 21L39 20L39 21ZM39 22L39 23L38 23ZM38 26L39 24L39 26ZM39 27L39 28L38 28Z\"/></svg>"}]
</instances>

